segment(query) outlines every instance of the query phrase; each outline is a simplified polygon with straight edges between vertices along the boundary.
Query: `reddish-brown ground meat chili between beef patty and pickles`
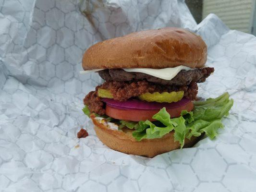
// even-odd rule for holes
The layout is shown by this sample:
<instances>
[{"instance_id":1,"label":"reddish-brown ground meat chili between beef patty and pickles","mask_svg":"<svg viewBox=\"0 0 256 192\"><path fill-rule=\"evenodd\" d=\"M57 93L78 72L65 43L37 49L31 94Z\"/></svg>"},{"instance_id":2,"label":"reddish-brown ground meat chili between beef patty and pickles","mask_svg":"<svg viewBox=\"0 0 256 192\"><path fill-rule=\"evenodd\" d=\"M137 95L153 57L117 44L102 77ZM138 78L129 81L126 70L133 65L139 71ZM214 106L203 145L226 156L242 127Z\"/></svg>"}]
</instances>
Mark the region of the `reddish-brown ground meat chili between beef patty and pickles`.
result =
<instances>
[{"instance_id":1,"label":"reddish-brown ground meat chili between beef patty and pickles","mask_svg":"<svg viewBox=\"0 0 256 192\"><path fill-rule=\"evenodd\" d=\"M85 96L84 104L88 106L90 112L95 112L99 115L105 114L105 104L98 96L98 88L108 89L113 95L113 99L118 101L126 101L131 97L136 97L144 93L154 92L172 92L172 91L184 91L184 97L189 99L195 99L197 95L197 84L192 82L189 85L183 86L167 86L159 85L147 82L146 80L138 82L116 82L107 81L96 87L96 91L91 91Z\"/></svg>"}]
</instances>

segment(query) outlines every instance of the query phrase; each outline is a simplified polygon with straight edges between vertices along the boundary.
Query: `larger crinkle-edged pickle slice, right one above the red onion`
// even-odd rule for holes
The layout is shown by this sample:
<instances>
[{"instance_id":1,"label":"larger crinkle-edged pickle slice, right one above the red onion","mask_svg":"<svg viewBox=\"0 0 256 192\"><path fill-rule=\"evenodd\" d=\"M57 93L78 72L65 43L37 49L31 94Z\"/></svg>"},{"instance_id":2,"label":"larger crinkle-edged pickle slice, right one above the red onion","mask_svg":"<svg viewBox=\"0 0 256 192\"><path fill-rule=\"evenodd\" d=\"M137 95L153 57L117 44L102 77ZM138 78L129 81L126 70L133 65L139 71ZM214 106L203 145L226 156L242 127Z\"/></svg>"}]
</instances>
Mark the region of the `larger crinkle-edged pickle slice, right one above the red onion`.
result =
<instances>
[{"instance_id":1,"label":"larger crinkle-edged pickle slice, right one above the red onion","mask_svg":"<svg viewBox=\"0 0 256 192\"><path fill-rule=\"evenodd\" d=\"M139 97L140 100L148 101L148 102L158 102L158 103L171 103L171 102L177 102L183 98L184 91L173 91L171 93L163 92L163 93L145 93L142 94Z\"/></svg>"}]
</instances>

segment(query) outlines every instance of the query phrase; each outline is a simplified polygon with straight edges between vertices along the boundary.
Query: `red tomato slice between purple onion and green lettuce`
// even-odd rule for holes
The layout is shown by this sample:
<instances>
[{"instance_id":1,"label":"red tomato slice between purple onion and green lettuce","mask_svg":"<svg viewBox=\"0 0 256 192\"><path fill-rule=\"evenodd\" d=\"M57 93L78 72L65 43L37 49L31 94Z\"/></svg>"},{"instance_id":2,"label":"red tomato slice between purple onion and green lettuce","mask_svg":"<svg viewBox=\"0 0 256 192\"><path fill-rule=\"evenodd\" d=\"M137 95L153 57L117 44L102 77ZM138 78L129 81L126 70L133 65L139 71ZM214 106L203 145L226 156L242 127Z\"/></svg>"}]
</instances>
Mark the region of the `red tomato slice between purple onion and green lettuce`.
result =
<instances>
[{"instance_id":1,"label":"red tomato slice between purple onion and green lettuce","mask_svg":"<svg viewBox=\"0 0 256 192\"><path fill-rule=\"evenodd\" d=\"M166 111L170 114L171 118L180 117L182 110L192 111L194 108L193 102L187 103L178 108L168 108ZM119 108L113 108L106 105L106 115L117 120L154 120L152 119L159 110L123 110Z\"/></svg>"}]
</instances>

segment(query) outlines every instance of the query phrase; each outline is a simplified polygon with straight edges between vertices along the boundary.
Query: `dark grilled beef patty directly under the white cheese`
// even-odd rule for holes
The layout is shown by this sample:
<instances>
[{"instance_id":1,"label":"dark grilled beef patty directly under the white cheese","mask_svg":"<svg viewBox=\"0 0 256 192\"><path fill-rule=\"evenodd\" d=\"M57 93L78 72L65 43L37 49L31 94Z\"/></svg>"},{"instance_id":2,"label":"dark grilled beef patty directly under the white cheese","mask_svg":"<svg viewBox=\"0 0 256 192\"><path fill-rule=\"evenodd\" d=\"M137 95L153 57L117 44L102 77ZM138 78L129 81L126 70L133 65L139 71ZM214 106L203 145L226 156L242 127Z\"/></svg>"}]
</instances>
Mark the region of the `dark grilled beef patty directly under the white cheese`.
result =
<instances>
[{"instance_id":1,"label":"dark grilled beef patty directly under the white cheese","mask_svg":"<svg viewBox=\"0 0 256 192\"><path fill-rule=\"evenodd\" d=\"M205 82L206 78L212 72L214 72L214 68L211 67L195 69L190 71L182 70L171 80L160 79L158 77L154 77L142 72L126 72L122 69L105 69L99 71L98 74L105 81L125 82L134 80L147 80L148 82L155 84L183 86L189 85L191 82Z\"/></svg>"}]
</instances>

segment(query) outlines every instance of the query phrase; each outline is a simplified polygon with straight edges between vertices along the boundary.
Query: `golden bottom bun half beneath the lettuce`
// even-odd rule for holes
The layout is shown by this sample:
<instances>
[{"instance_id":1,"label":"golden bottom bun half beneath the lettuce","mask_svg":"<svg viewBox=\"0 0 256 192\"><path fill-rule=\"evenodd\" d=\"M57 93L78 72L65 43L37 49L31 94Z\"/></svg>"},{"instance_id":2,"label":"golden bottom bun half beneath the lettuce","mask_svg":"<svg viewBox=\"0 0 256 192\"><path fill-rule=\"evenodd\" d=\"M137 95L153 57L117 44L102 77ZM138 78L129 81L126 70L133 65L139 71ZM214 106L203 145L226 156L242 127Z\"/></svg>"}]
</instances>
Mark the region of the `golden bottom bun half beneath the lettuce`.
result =
<instances>
[{"instance_id":1,"label":"golden bottom bun half beneath the lettuce","mask_svg":"<svg viewBox=\"0 0 256 192\"><path fill-rule=\"evenodd\" d=\"M136 141L132 136L133 130L122 129L122 131L111 130L106 125L100 123L91 116L95 125L94 130L99 140L111 149L126 154L138 156L154 157L162 153L166 153L181 147L179 142L174 142L174 132L170 132L159 139L142 139ZM198 142L200 138L192 136L190 140L185 139L185 147L191 147Z\"/></svg>"}]
</instances>

